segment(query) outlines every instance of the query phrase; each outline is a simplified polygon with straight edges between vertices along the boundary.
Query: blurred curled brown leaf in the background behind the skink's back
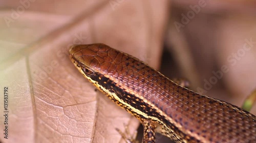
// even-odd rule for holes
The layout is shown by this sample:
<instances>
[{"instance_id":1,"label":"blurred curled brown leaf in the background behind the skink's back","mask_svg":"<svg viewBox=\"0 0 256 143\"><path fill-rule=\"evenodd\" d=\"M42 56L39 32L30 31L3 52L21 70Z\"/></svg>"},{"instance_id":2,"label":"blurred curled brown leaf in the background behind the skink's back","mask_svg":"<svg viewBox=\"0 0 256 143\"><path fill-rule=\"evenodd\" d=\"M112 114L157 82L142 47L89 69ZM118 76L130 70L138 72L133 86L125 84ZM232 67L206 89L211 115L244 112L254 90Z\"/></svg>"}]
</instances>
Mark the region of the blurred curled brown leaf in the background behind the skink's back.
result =
<instances>
[{"instance_id":1,"label":"blurred curled brown leaf in the background behind the skink's back","mask_svg":"<svg viewBox=\"0 0 256 143\"><path fill-rule=\"evenodd\" d=\"M172 6L166 45L178 63L175 69L192 90L242 106L256 85L255 1L173 1ZM256 106L250 112L255 115Z\"/></svg>"}]
</instances>

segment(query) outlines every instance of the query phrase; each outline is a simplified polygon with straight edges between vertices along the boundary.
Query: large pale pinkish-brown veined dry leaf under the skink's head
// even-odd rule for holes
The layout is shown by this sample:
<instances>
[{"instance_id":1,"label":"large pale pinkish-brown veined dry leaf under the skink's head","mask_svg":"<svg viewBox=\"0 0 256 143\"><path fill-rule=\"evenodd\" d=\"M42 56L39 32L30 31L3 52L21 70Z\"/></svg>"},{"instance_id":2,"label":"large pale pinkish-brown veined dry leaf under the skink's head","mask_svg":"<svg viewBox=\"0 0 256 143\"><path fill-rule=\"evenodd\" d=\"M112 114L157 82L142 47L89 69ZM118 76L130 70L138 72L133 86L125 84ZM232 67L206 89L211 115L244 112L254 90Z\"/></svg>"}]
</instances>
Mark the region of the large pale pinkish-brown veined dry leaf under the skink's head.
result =
<instances>
[{"instance_id":1,"label":"large pale pinkish-brown veined dry leaf under the skink's head","mask_svg":"<svg viewBox=\"0 0 256 143\"><path fill-rule=\"evenodd\" d=\"M138 120L95 91L68 49L102 42L159 68L168 2L26 2L1 2L9 8L0 13L0 85L8 87L9 113L8 139L0 116L0 141L121 142L115 128L127 124L133 133Z\"/></svg>"}]
</instances>

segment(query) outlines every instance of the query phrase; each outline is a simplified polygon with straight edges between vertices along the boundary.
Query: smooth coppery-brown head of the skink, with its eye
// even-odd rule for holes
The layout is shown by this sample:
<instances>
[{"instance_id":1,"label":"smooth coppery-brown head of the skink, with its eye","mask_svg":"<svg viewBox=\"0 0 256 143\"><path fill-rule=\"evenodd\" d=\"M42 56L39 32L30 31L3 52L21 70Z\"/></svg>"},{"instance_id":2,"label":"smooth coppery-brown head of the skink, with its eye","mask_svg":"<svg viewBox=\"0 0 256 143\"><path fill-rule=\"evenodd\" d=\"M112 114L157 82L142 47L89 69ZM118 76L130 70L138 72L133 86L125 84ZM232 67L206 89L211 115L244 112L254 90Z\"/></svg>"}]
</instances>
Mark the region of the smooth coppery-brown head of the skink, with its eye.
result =
<instances>
[{"instance_id":1,"label":"smooth coppery-brown head of the skink, with its eye","mask_svg":"<svg viewBox=\"0 0 256 143\"><path fill-rule=\"evenodd\" d=\"M74 45L70 48L69 53L73 64L86 78L95 73L109 76L108 74L120 68L116 67L118 62L121 62L118 56L124 54L101 43Z\"/></svg>"}]
</instances>

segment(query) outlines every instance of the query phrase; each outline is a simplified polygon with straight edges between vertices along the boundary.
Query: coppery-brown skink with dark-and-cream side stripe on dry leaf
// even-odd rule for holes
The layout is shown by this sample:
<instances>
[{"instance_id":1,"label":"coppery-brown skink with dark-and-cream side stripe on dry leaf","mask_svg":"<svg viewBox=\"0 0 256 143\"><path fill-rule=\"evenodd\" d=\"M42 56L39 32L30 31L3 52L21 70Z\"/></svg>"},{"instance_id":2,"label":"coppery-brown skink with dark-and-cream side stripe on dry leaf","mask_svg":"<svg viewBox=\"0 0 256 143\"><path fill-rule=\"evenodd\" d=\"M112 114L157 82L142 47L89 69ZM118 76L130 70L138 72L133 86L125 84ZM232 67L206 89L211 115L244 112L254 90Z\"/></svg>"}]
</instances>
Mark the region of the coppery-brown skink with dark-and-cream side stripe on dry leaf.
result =
<instances>
[{"instance_id":1,"label":"coppery-brown skink with dark-and-cream side stripe on dry leaf","mask_svg":"<svg viewBox=\"0 0 256 143\"><path fill-rule=\"evenodd\" d=\"M144 127L176 142L256 142L256 118L230 103L181 87L133 56L105 44L74 45L76 68Z\"/></svg>"}]
</instances>

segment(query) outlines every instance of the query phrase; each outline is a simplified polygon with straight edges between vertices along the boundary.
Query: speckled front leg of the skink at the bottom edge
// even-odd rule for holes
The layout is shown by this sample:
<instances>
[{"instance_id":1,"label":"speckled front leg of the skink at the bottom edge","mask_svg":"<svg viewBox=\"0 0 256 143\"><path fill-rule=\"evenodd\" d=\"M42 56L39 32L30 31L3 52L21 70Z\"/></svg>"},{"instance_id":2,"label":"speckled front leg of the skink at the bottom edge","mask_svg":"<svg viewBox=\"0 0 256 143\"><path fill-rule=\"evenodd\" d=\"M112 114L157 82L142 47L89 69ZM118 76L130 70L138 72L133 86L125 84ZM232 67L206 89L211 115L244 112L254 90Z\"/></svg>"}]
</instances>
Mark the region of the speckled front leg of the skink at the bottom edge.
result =
<instances>
[{"instance_id":1,"label":"speckled front leg of the skink at the bottom edge","mask_svg":"<svg viewBox=\"0 0 256 143\"><path fill-rule=\"evenodd\" d=\"M143 125L143 139L142 143L155 143L156 142L156 123L145 120L142 123Z\"/></svg>"}]
</instances>

